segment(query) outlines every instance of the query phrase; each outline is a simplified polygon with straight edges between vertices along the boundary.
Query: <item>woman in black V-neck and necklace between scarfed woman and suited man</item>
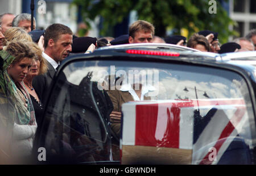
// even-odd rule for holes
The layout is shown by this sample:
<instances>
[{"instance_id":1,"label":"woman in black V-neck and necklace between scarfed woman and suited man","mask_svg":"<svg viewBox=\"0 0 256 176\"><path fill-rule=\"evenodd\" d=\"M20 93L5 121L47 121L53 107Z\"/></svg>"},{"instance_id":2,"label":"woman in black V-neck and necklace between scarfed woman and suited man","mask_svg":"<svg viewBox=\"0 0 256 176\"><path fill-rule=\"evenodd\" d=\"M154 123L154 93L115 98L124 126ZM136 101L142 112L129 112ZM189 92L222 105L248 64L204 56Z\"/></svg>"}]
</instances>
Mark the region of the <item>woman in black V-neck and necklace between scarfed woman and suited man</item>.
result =
<instances>
[{"instance_id":1,"label":"woman in black V-neck and necklace between scarfed woman and suited man","mask_svg":"<svg viewBox=\"0 0 256 176\"><path fill-rule=\"evenodd\" d=\"M32 87L32 80L35 76L44 74L47 70L47 65L39 46L36 45L35 42L27 42L27 44L30 46L31 50L35 52L36 57L32 60L30 72L28 72L23 81L28 93L30 94L32 104L35 109L36 122L39 125L43 115L43 105L40 101L42 97L39 97L39 94L36 93L35 89Z\"/></svg>"}]
</instances>

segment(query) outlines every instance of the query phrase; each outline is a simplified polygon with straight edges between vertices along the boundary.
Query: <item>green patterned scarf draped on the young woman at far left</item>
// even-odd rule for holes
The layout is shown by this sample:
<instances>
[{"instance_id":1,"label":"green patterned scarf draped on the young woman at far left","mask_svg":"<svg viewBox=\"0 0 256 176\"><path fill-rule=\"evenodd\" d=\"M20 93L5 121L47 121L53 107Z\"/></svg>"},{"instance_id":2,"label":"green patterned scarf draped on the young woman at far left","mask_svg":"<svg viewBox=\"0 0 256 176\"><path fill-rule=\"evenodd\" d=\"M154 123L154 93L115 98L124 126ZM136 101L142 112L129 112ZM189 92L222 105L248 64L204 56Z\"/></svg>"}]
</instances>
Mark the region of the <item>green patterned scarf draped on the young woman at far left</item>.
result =
<instances>
[{"instance_id":1,"label":"green patterned scarf draped on the young woman at far left","mask_svg":"<svg viewBox=\"0 0 256 176\"><path fill-rule=\"evenodd\" d=\"M14 122L35 125L35 111L23 81L15 84L7 72L15 58L5 50L0 51L0 56L0 144L3 144L10 141Z\"/></svg>"}]
</instances>

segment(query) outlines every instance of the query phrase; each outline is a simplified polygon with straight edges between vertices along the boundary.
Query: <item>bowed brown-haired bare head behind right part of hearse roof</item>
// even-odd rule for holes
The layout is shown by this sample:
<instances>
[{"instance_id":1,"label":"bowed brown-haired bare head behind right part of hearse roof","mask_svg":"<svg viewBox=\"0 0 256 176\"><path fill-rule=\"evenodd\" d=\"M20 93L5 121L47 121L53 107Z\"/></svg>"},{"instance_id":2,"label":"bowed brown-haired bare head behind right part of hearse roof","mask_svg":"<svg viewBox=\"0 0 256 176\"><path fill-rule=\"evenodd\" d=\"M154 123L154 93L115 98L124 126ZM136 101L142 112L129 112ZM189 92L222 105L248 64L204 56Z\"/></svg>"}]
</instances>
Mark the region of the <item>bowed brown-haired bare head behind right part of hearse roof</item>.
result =
<instances>
[{"instance_id":1,"label":"bowed brown-haired bare head behind right part of hearse roof","mask_svg":"<svg viewBox=\"0 0 256 176\"><path fill-rule=\"evenodd\" d=\"M210 51L210 44L207 38L205 38L203 35L199 35L198 33L195 33L189 38L187 47L204 52Z\"/></svg>"}]
</instances>

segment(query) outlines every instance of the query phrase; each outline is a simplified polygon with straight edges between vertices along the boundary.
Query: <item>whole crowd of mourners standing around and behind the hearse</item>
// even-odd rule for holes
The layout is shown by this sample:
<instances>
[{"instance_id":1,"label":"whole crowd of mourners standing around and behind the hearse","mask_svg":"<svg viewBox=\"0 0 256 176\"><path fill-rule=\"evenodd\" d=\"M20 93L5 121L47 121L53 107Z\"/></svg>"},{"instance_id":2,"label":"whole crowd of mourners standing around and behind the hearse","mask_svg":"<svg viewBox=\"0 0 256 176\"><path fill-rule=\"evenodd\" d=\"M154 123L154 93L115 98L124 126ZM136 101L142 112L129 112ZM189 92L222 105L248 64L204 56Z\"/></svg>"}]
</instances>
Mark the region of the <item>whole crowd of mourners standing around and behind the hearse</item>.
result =
<instances>
[{"instance_id":1,"label":"whole crowd of mourners standing around and behind the hearse","mask_svg":"<svg viewBox=\"0 0 256 176\"><path fill-rule=\"evenodd\" d=\"M92 53L101 46L158 42L180 45L200 51L228 53L256 50L256 29L245 37L220 44L218 32L200 31L187 38L180 35L155 36L154 25L137 20L129 34L113 37L77 37L63 24L51 24L45 30L31 29L31 15L0 15L0 163L19 161L32 152L38 125L42 121L46 97L53 75L69 55ZM108 92L113 103L109 117L114 135L119 138L122 92ZM141 92L127 100L144 100Z\"/></svg>"}]
</instances>

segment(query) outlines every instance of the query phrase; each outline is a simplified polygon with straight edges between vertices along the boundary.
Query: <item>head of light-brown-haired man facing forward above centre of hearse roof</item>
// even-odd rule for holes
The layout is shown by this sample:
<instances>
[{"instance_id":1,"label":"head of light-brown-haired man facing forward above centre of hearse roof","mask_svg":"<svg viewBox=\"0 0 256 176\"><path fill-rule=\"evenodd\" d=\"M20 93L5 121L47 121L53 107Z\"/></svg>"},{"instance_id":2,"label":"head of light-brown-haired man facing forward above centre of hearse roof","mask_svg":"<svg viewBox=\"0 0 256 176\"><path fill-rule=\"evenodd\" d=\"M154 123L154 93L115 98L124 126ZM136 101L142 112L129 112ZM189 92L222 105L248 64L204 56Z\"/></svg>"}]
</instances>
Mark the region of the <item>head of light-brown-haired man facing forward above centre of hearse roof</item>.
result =
<instances>
[{"instance_id":1,"label":"head of light-brown-haired man facing forward above centre of hearse roof","mask_svg":"<svg viewBox=\"0 0 256 176\"><path fill-rule=\"evenodd\" d=\"M154 25L144 20L138 20L129 27L129 44L152 42L154 34Z\"/></svg>"}]
</instances>

